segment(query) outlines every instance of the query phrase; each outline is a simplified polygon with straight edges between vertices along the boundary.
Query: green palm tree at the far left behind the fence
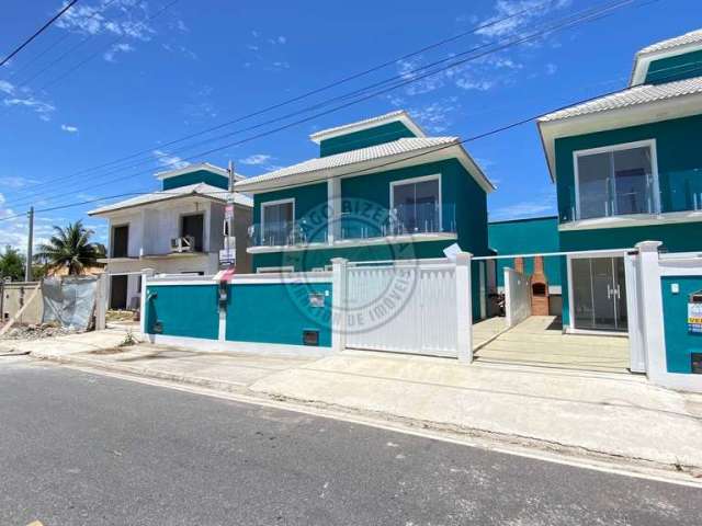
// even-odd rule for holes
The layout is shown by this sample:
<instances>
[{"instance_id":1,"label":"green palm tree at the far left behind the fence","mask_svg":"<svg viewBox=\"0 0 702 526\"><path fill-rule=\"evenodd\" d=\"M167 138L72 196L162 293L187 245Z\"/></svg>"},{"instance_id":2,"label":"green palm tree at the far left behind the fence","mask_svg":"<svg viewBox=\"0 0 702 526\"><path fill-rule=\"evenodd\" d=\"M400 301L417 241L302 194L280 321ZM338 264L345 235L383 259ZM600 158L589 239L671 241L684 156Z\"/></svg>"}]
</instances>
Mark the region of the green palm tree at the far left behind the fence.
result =
<instances>
[{"instance_id":1,"label":"green palm tree at the far left behind the fence","mask_svg":"<svg viewBox=\"0 0 702 526\"><path fill-rule=\"evenodd\" d=\"M68 267L68 274L79 275L105 256L104 245L90 242L94 232L83 227L82 221L69 222L66 228L55 226L54 230L48 243L41 244L36 253L36 259L48 268Z\"/></svg>"}]
</instances>

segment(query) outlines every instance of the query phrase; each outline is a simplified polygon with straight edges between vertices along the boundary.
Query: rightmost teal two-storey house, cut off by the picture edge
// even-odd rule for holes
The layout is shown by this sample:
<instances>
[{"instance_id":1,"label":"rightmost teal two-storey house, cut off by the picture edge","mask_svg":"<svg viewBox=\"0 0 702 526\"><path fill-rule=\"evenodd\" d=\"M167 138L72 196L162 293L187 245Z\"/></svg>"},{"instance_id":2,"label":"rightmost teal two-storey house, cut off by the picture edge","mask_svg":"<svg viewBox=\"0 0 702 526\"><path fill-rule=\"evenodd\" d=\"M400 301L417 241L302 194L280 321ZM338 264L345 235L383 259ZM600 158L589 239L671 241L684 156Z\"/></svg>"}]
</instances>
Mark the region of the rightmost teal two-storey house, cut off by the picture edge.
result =
<instances>
[{"instance_id":1,"label":"rightmost teal two-storey house, cut off by the picture edge","mask_svg":"<svg viewBox=\"0 0 702 526\"><path fill-rule=\"evenodd\" d=\"M539 119L558 201L563 321L627 332L624 253L702 250L702 31L634 58L630 85Z\"/></svg>"}]
</instances>

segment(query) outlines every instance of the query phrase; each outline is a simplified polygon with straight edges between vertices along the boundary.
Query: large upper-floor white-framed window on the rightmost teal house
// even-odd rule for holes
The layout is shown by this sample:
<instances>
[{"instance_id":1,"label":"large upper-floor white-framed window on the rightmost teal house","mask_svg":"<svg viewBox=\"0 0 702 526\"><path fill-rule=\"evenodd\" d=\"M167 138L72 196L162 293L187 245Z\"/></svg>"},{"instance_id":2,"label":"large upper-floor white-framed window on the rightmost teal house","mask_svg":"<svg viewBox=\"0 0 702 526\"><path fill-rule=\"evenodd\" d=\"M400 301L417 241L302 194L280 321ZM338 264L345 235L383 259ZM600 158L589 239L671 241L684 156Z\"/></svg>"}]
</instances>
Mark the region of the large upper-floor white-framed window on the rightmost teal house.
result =
<instances>
[{"instance_id":1,"label":"large upper-floor white-framed window on the rightmost teal house","mask_svg":"<svg viewBox=\"0 0 702 526\"><path fill-rule=\"evenodd\" d=\"M576 151L577 218L657 213L655 155L653 140Z\"/></svg>"}]
</instances>

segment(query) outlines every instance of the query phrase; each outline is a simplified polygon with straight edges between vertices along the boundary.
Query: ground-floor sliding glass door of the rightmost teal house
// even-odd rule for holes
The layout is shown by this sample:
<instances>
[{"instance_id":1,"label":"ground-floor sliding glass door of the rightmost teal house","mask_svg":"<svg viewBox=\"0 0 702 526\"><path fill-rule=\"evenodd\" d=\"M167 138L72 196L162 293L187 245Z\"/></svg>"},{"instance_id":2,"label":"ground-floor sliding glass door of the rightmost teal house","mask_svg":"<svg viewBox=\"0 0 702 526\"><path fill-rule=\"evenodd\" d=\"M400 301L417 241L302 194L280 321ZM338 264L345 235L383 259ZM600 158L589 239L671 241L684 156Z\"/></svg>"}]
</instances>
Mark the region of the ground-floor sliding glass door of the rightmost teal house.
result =
<instances>
[{"instance_id":1,"label":"ground-floor sliding glass door of the rightmost teal house","mask_svg":"<svg viewBox=\"0 0 702 526\"><path fill-rule=\"evenodd\" d=\"M570 279L576 329L627 330L623 258L573 259Z\"/></svg>"}]
</instances>

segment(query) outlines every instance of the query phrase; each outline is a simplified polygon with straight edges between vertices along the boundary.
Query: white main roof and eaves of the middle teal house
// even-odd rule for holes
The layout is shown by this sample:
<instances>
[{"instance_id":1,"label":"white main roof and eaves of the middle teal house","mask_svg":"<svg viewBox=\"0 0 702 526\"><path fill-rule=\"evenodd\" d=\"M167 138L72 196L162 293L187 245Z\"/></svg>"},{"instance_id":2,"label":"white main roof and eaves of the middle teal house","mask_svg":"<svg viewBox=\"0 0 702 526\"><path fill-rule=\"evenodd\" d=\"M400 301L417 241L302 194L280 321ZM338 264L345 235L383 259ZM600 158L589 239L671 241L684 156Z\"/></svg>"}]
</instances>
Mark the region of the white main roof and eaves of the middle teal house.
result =
<instances>
[{"instance_id":1,"label":"white main roof and eaves of the middle teal house","mask_svg":"<svg viewBox=\"0 0 702 526\"><path fill-rule=\"evenodd\" d=\"M403 149L401 146L408 141L419 141L421 146ZM366 156L364 156L364 153L366 153ZM419 153L421 153L421 157L418 157ZM393 142L385 142L383 145L372 146L361 150L310 159L299 164L312 164L312 167L314 167L316 161L318 161L321 165L310 170L303 170L301 168L301 171L284 173L282 175L276 175L278 172L271 172L270 174L263 174L257 178L251 178L250 180L238 182L236 183L235 188L238 192L257 194L261 192L271 192L280 187L302 186L305 184L317 183L332 178L370 175L372 173L387 172L390 170L451 158L457 159L485 192L491 193L495 191L495 185L490 182L487 175L485 175L480 167L475 162L475 160L473 160L465 148L463 148L457 137L398 139ZM392 162L392 165L388 165L389 162ZM294 167L290 167L290 169ZM282 169L280 171L290 169Z\"/></svg>"}]
</instances>

